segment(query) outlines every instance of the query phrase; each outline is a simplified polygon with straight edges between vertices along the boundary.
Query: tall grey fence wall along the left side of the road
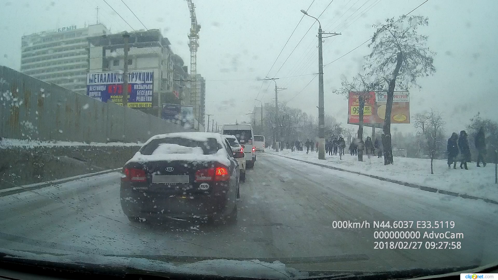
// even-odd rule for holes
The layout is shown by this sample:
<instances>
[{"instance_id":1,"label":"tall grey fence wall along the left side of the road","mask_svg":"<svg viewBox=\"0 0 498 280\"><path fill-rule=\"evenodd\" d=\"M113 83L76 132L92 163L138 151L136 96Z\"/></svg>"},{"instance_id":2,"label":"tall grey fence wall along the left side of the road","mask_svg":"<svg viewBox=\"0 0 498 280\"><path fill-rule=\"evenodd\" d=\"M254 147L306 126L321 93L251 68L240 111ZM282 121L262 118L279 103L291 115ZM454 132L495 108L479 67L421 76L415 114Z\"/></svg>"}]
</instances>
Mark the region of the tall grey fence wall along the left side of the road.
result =
<instances>
[{"instance_id":1,"label":"tall grey fence wall along the left side of the road","mask_svg":"<svg viewBox=\"0 0 498 280\"><path fill-rule=\"evenodd\" d=\"M137 142L194 131L0 66L0 137Z\"/></svg>"}]
</instances>

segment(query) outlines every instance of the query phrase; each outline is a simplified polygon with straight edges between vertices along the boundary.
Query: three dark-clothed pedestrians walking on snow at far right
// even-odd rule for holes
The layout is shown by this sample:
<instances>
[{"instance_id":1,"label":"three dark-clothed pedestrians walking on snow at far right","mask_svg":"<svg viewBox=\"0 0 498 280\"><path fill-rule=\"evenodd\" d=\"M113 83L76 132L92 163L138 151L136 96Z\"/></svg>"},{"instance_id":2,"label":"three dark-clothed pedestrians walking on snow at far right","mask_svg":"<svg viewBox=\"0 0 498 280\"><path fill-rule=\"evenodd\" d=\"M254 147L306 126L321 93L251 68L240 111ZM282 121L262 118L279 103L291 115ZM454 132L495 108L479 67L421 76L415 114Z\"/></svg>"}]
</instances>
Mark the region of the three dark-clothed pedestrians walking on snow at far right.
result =
<instances>
[{"instance_id":1,"label":"three dark-clothed pedestrians walking on snow at far right","mask_svg":"<svg viewBox=\"0 0 498 280\"><path fill-rule=\"evenodd\" d=\"M486 153L484 127L479 128L479 132L474 139L474 144L476 145L478 151L477 167L481 167L481 165L479 165L481 162L483 163L483 166L486 166L486 161L484 161L484 155ZM471 161L471 153L469 140L467 139L467 132L464 130L461 131L460 137L454 132L448 139L447 152L448 168L451 168L451 164L453 164L453 169L457 169L457 161L460 159L460 168L468 170L467 162Z\"/></svg>"}]
</instances>

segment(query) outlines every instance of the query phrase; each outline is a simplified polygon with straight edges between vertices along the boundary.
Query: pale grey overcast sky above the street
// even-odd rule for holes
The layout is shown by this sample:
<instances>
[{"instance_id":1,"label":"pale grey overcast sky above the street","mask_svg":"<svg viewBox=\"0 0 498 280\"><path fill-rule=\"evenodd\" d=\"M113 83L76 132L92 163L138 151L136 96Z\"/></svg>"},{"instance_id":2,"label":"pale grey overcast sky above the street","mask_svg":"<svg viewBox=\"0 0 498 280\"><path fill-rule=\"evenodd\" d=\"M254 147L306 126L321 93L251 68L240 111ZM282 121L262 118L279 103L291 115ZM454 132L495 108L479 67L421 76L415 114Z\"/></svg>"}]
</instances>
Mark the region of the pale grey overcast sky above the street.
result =
<instances>
[{"instance_id":1,"label":"pale grey overcast sky above the street","mask_svg":"<svg viewBox=\"0 0 498 280\"><path fill-rule=\"evenodd\" d=\"M122 0L106 1L131 27L104 0L0 0L0 64L18 70L22 35L95 23L97 6L100 22L113 33L144 28ZM185 0L124 2L146 28L160 29L170 40L173 51L189 65L190 18ZM323 60L327 64L371 37L372 24L406 14L422 2L424 0L333 0L332 3L330 0L194 0L197 20L202 26L197 71L206 79L206 113L214 114L211 119L218 124L249 121L246 114L253 106L259 106L254 98L262 99L263 103L274 98L273 83L257 80L269 72L268 77L281 77L277 80L279 87L288 88L279 92L280 101L288 101L288 106L317 115L318 77L311 79L318 72L318 24L310 17L302 18L299 10L309 7L308 13L315 17L323 12L319 19L324 30L342 33L325 39ZM485 118L498 120L497 10L495 0L472 3L429 0L412 13L429 17L429 26L421 28L420 33L429 36L428 46L437 52L434 59L437 72L419 80L421 90L410 91L411 116L431 107L438 109L444 112L447 132L465 129L478 111ZM276 59L296 25L297 29ZM351 77L361 69L363 56L368 53L365 44L324 68L325 112L343 123L347 118L347 101L332 90L340 87L342 75ZM298 75L307 76L282 78ZM412 125L392 128L403 132L413 130Z\"/></svg>"}]
</instances>

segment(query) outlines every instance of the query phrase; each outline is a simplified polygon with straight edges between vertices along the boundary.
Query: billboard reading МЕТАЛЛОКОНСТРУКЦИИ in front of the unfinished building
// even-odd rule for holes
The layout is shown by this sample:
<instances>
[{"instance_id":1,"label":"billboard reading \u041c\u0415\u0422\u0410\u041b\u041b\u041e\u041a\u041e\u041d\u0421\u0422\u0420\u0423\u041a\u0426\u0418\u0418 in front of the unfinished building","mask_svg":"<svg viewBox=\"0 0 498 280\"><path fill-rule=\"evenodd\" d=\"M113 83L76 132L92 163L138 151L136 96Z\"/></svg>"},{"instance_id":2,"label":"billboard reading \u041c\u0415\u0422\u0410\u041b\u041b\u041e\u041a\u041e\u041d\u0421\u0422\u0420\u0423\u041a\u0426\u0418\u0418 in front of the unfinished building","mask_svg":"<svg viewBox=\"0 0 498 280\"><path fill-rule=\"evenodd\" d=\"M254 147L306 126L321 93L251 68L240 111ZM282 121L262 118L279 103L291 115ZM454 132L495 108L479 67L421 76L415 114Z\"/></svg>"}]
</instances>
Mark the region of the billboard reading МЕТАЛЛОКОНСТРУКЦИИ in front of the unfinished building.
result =
<instances>
[{"instance_id":1,"label":"billboard reading \u041c\u0415\u0422\u0410\u041b\u041b\u041e\u041a\u041e\u041d\u0421\u0422\u0420\u0423\u041a\u0426\u0418\u0418 in front of the unfinished building","mask_svg":"<svg viewBox=\"0 0 498 280\"><path fill-rule=\"evenodd\" d=\"M154 71L128 72L128 107L152 108ZM87 73L87 95L123 105L123 71Z\"/></svg>"}]
</instances>

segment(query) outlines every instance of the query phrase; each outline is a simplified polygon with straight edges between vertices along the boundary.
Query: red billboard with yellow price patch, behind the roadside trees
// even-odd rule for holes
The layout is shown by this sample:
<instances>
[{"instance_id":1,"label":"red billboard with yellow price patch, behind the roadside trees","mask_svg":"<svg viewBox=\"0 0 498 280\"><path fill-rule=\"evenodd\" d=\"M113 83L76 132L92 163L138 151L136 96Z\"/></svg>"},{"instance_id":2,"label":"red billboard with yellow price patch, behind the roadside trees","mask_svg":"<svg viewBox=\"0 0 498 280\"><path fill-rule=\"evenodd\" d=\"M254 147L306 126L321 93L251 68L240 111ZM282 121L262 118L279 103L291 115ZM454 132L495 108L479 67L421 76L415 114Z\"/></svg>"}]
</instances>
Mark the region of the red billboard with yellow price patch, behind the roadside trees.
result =
<instances>
[{"instance_id":1,"label":"red billboard with yellow price patch, behind the roadside trees","mask_svg":"<svg viewBox=\"0 0 498 280\"><path fill-rule=\"evenodd\" d=\"M348 106L348 124L359 124L358 94L350 92ZM385 119L387 93L370 92L365 100L363 115L364 125L367 127L382 127ZM392 100L391 124L410 123L410 98L408 92L395 91Z\"/></svg>"}]
</instances>

